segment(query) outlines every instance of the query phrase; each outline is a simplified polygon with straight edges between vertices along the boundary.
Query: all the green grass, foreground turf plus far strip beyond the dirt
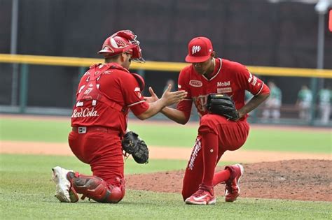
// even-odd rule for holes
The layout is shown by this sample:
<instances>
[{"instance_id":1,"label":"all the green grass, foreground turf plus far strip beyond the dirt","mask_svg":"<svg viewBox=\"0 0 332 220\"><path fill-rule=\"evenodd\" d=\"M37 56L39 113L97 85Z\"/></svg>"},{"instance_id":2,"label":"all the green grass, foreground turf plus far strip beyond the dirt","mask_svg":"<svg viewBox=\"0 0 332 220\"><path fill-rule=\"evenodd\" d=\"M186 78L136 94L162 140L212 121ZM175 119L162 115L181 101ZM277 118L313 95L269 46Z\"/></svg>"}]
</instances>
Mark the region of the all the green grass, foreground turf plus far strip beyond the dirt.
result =
<instances>
[{"instance_id":1,"label":"all the green grass, foreground turf plus far strip beyond the dirt","mask_svg":"<svg viewBox=\"0 0 332 220\"><path fill-rule=\"evenodd\" d=\"M0 141L67 142L69 128L69 122L63 121L0 119ZM197 130L176 124L134 123L130 129L149 145L165 147L192 147ZM245 147L331 153L331 133L256 129L251 131ZM50 181L50 169L57 165L90 173L89 166L72 156L0 154L1 219L332 219L332 203L328 202L239 198L235 203L225 203L218 196L216 205L202 207L184 205L177 193L134 190L127 190L118 204L90 203L87 199L59 203L54 197L55 184ZM186 161L151 160L142 166L128 160L125 174L179 170L185 166Z\"/></svg>"}]
</instances>

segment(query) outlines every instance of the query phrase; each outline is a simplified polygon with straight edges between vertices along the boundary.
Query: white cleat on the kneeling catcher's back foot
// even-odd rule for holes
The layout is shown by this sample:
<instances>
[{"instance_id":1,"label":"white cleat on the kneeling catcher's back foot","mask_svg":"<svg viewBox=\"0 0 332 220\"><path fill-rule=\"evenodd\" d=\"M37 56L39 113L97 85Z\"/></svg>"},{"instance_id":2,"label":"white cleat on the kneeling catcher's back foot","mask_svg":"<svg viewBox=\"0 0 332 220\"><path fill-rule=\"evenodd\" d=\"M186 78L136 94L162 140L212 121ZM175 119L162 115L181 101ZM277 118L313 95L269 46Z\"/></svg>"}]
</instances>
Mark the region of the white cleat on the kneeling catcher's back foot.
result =
<instances>
[{"instance_id":1,"label":"white cleat on the kneeling catcher's back foot","mask_svg":"<svg viewBox=\"0 0 332 220\"><path fill-rule=\"evenodd\" d=\"M78 196L74 188L71 187L71 183L67 179L67 173L71 170L66 170L56 166L52 168L52 179L55 182L55 197L62 203L76 203Z\"/></svg>"}]
</instances>

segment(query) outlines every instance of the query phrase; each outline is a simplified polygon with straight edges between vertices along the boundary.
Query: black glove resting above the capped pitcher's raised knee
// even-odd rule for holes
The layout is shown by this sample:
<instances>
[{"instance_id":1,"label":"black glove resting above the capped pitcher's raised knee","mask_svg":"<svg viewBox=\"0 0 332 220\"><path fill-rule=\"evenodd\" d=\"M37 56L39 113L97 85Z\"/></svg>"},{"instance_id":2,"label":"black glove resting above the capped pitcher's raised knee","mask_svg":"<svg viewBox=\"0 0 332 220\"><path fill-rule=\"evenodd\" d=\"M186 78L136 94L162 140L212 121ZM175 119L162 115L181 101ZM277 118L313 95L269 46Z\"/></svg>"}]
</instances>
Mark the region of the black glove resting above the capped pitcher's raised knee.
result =
<instances>
[{"instance_id":1,"label":"black glove resting above the capped pitcher's raised knee","mask_svg":"<svg viewBox=\"0 0 332 220\"><path fill-rule=\"evenodd\" d=\"M207 96L207 110L233 121L239 119L235 103L227 94L209 94Z\"/></svg>"}]
</instances>

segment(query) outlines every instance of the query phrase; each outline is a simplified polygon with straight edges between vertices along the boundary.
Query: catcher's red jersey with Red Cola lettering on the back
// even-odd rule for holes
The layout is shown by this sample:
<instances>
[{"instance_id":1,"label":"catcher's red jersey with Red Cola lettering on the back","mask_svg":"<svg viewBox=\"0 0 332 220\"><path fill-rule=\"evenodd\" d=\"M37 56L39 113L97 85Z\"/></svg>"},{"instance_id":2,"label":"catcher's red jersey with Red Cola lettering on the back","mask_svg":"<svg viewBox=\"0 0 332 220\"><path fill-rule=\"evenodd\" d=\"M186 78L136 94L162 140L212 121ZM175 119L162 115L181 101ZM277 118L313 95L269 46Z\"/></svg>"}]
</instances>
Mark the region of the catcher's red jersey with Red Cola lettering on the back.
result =
<instances>
[{"instance_id":1,"label":"catcher's red jersey with Red Cola lettering on the back","mask_svg":"<svg viewBox=\"0 0 332 220\"><path fill-rule=\"evenodd\" d=\"M139 82L127 69L116 63L95 64L78 85L71 126L105 126L124 134L128 108L141 115L148 107Z\"/></svg>"}]
</instances>

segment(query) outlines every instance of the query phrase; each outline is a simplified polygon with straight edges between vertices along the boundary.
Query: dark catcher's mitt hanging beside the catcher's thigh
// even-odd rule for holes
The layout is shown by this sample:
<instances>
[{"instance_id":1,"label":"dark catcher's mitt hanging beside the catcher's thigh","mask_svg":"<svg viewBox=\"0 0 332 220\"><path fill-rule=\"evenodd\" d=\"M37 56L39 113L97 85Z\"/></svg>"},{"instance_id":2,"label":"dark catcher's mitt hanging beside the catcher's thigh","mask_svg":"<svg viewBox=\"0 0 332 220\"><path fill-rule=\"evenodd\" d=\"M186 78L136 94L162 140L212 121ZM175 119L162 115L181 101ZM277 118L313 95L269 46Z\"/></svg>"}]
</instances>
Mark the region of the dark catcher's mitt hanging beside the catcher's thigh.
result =
<instances>
[{"instance_id":1,"label":"dark catcher's mitt hanging beside the catcher's thigh","mask_svg":"<svg viewBox=\"0 0 332 220\"><path fill-rule=\"evenodd\" d=\"M125 133L121 144L122 149L127 154L132 154L134 161L137 163L148 163L148 146L146 146L144 140L138 137L137 133L133 131Z\"/></svg>"}]
</instances>

